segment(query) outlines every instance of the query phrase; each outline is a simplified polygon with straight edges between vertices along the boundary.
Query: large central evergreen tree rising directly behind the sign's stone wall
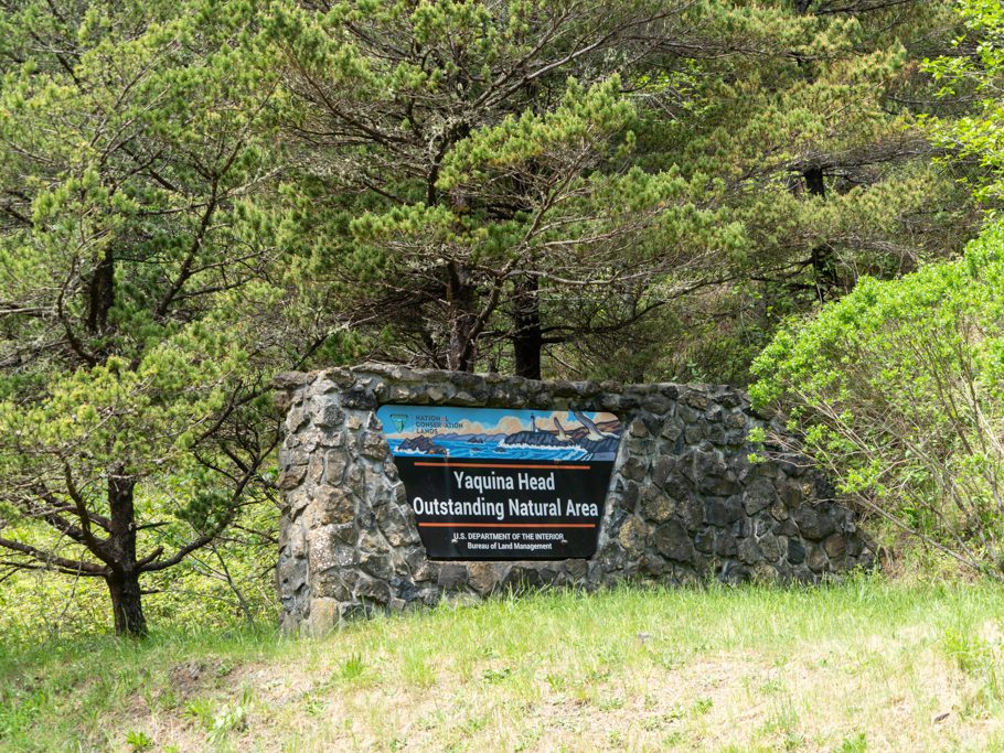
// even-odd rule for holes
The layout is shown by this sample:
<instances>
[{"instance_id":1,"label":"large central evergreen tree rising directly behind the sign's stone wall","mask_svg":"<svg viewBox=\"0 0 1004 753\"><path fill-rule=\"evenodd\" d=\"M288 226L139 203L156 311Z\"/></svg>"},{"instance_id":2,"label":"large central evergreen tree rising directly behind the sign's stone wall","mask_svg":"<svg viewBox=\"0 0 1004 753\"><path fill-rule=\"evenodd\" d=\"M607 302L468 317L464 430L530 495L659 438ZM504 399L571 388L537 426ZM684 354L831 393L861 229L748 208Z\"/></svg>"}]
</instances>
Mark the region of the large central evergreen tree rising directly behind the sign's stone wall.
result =
<instances>
[{"instance_id":1,"label":"large central evergreen tree rising directly behind the sign's stone wall","mask_svg":"<svg viewBox=\"0 0 1004 753\"><path fill-rule=\"evenodd\" d=\"M540 377L620 300L736 244L706 176L639 170L651 60L704 44L690 3L344 2L271 22L299 108L317 272L383 357ZM655 95L653 95L655 96ZM587 303L588 302L588 303ZM504 346L504 347L503 347Z\"/></svg>"}]
</instances>

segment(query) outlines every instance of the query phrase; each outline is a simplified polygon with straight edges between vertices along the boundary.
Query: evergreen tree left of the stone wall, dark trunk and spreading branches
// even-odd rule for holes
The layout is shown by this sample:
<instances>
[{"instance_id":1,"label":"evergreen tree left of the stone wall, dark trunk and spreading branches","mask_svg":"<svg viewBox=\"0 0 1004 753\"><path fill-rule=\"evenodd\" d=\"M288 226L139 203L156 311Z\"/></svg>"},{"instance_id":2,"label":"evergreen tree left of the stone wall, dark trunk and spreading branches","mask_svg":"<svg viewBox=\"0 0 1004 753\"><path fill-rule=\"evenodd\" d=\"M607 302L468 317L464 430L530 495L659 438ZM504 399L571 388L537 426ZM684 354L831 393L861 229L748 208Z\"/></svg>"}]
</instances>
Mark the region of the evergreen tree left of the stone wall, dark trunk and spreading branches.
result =
<instances>
[{"instance_id":1,"label":"evergreen tree left of the stone wall, dark trunk and spreading branches","mask_svg":"<svg viewBox=\"0 0 1004 753\"><path fill-rule=\"evenodd\" d=\"M0 550L99 578L143 634L140 577L269 493L281 315L277 82L249 4L18 3L0 14Z\"/></svg>"}]
</instances>

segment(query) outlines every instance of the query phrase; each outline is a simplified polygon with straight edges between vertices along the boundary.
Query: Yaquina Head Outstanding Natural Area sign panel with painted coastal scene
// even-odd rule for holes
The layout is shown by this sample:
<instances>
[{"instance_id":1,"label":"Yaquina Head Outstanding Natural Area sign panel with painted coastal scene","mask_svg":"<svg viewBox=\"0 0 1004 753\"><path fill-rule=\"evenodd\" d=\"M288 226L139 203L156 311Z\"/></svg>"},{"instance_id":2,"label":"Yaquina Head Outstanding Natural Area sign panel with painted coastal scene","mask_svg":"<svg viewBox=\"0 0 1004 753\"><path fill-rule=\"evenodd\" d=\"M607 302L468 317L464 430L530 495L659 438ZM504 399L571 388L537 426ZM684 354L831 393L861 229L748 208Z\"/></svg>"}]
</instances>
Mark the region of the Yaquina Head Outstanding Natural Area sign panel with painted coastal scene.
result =
<instances>
[{"instance_id":1,"label":"Yaquina Head Outstanding Natural Area sign panel with painted coastal scene","mask_svg":"<svg viewBox=\"0 0 1004 753\"><path fill-rule=\"evenodd\" d=\"M385 405L377 417L430 559L596 552L613 413Z\"/></svg>"}]
</instances>

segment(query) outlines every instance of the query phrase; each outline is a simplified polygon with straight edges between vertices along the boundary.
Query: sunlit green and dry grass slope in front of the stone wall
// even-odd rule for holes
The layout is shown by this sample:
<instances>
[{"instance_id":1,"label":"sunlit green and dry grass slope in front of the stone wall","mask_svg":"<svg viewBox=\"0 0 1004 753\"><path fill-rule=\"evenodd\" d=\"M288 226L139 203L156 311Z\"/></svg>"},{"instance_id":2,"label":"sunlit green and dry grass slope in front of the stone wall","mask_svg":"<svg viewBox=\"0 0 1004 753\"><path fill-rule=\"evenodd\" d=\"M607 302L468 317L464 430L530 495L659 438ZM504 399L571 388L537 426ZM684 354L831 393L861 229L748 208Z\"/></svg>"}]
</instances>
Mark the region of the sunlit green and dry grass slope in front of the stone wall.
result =
<instances>
[{"instance_id":1,"label":"sunlit green and dry grass slope in front of the stone wall","mask_svg":"<svg viewBox=\"0 0 1004 753\"><path fill-rule=\"evenodd\" d=\"M622 589L0 648L3 751L1004 747L1004 589Z\"/></svg>"}]
</instances>

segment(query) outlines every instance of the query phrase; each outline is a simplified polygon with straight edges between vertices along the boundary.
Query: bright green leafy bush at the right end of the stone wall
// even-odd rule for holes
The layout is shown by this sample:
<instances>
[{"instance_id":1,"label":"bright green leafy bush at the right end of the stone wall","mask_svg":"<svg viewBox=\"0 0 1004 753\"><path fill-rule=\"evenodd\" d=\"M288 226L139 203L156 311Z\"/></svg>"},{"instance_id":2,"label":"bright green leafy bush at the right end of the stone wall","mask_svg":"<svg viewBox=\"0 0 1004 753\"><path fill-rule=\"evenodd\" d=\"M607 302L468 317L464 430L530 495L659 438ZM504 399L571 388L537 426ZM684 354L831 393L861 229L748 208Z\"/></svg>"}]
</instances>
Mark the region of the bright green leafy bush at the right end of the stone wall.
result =
<instances>
[{"instance_id":1,"label":"bright green leafy bush at the right end of the stone wall","mask_svg":"<svg viewBox=\"0 0 1004 753\"><path fill-rule=\"evenodd\" d=\"M841 491L964 563L1004 573L1004 226L959 261L864 279L758 357Z\"/></svg>"}]
</instances>

